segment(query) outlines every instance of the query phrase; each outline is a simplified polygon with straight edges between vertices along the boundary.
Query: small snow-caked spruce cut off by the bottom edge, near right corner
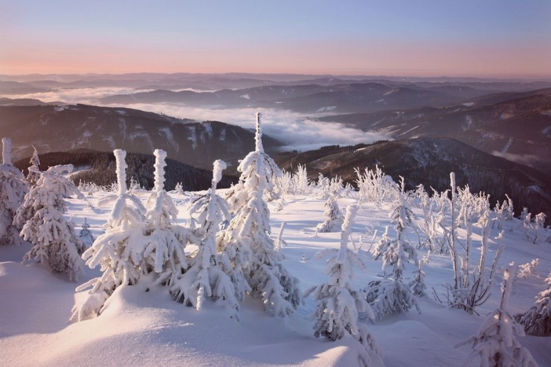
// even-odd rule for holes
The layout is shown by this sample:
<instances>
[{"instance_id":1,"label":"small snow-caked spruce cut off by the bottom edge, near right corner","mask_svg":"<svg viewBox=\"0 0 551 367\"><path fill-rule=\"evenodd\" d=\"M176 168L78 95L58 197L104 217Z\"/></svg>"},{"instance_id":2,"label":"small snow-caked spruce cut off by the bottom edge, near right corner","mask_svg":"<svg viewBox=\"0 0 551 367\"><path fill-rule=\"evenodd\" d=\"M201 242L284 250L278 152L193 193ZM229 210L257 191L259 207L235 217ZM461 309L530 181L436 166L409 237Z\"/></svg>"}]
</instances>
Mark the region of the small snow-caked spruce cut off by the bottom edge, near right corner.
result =
<instances>
[{"instance_id":1,"label":"small snow-caked spruce cut off by the bottom edge, near right corner","mask_svg":"<svg viewBox=\"0 0 551 367\"><path fill-rule=\"evenodd\" d=\"M530 351L521 346L514 337L514 333L520 337L525 335L522 326L517 324L506 311L514 278L511 271L516 271L514 264L510 264L503 272L499 308L488 315L475 335L455 346L457 348L472 342L472 353L465 361L465 366L470 366L477 357L480 359L480 366L537 366Z\"/></svg>"}]
</instances>

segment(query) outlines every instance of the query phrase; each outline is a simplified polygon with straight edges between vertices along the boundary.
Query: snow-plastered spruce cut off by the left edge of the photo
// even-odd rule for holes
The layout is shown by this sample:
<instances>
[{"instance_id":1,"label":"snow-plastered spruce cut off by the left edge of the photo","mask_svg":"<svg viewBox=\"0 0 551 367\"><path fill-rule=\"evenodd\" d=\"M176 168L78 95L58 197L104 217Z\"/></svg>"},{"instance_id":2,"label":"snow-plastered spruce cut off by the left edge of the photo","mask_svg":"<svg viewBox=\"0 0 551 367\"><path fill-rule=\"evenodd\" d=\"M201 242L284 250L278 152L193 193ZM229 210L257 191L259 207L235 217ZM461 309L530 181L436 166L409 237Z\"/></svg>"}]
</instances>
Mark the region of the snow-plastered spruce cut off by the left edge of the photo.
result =
<instances>
[{"instance_id":1,"label":"snow-plastered spruce cut off by the left edge of the photo","mask_svg":"<svg viewBox=\"0 0 551 367\"><path fill-rule=\"evenodd\" d=\"M28 192L25 176L12 165L11 149L12 140L3 138L0 165L0 245L21 243L21 226L13 224L13 220Z\"/></svg>"}]
</instances>

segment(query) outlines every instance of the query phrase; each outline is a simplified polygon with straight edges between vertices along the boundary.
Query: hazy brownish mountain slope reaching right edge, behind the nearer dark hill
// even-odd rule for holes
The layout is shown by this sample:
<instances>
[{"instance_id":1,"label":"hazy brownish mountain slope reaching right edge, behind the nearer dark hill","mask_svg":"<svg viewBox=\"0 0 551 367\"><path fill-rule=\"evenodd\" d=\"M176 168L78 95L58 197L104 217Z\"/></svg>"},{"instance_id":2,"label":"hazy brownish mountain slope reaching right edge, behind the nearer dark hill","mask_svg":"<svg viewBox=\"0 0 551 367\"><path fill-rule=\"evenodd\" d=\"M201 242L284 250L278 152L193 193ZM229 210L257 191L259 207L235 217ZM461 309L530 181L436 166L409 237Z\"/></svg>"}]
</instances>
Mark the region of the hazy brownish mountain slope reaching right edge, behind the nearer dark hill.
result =
<instances>
[{"instance_id":1,"label":"hazy brownish mountain slope reaching right edge, behind the nearer dark hill","mask_svg":"<svg viewBox=\"0 0 551 367\"><path fill-rule=\"evenodd\" d=\"M515 97L501 101L505 97ZM497 99L496 99L497 98ZM497 103L492 103L498 100ZM494 94L444 108L318 118L396 139L450 137L551 174L551 89Z\"/></svg>"}]
</instances>

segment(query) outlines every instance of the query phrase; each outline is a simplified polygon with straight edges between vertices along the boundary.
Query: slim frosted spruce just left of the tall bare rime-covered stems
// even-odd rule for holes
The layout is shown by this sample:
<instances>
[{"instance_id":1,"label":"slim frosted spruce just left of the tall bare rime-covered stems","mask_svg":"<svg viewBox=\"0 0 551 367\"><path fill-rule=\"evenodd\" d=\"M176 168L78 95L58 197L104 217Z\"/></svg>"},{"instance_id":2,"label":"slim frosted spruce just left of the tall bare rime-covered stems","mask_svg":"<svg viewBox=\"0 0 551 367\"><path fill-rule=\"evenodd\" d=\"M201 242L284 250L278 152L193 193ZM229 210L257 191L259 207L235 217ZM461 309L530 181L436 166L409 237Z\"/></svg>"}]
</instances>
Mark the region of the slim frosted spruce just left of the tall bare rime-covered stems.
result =
<instances>
[{"instance_id":1,"label":"slim frosted spruce just left of the tall bare rime-covered stems","mask_svg":"<svg viewBox=\"0 0 551 367\"><path fill-rule=\"evenodd\" d=\"M378 318L385 314L408 312L414 306L420 313L413 293L403 282L406 263L417 263L415 248L404 239L404 230L411 223L411 216L404 200L395 202L389 217L395 224L397 237L392 239L386 227L382 240L375 244L373 255L375 259L382 257L384 279L371 282L366 291L367 301ZM387 273L388 267L392 268L392 273Z\"/></svg>"}]
</instances>

